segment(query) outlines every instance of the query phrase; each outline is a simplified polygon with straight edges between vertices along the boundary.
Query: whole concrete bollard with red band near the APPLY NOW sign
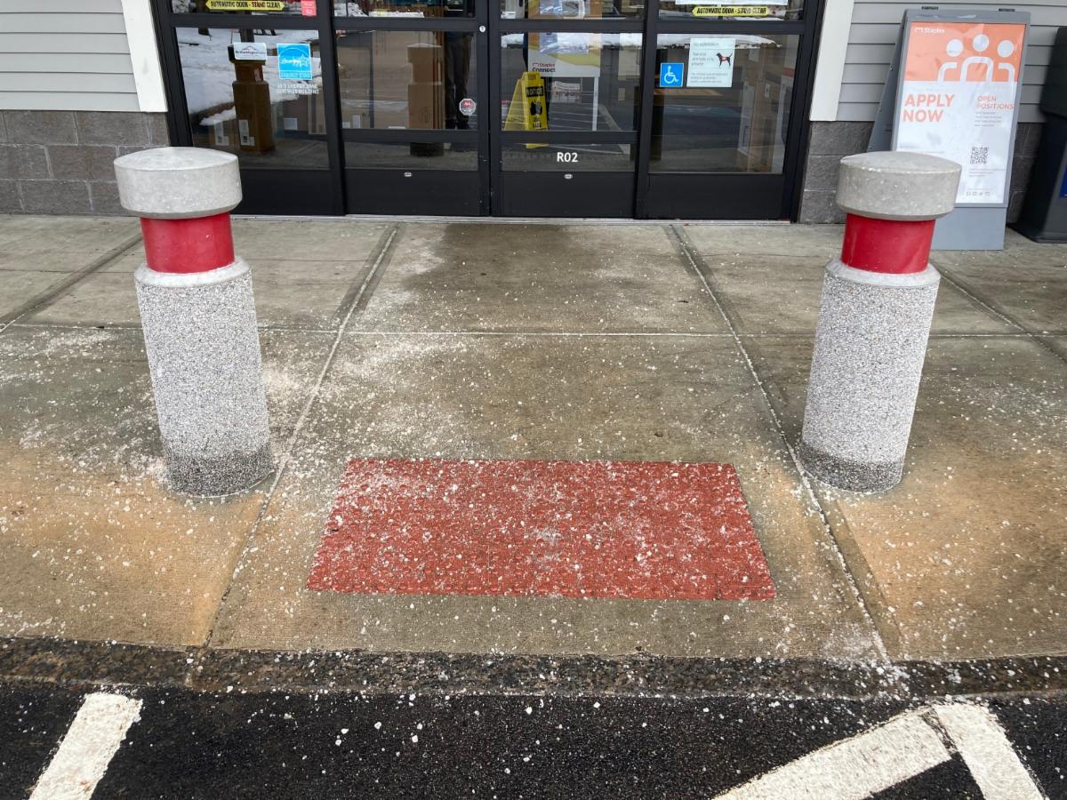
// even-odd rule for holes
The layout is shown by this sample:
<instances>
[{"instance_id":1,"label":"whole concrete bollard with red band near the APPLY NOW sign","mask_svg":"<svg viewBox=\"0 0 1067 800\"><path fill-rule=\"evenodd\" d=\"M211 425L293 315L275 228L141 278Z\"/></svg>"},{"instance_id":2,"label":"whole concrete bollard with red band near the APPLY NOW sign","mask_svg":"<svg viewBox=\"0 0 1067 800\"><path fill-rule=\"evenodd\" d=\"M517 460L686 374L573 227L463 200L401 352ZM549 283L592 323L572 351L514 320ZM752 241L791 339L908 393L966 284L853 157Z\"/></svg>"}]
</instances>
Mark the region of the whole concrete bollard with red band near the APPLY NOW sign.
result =
<instances>
[{"instance_id":1,"label":"whole concrete bollard with red band near the APPLY NOW sign","mask_svg":"<svg viewBox=\"0 0 1067 800\"><path fill-rule=\"evenodd\" d=\"M841 161L847 213L841 258L826 267L799 455L839 489L899 483L941 279L934 224L956 203L959 164L914 153Z\"/></svg>"}]
</instances>

